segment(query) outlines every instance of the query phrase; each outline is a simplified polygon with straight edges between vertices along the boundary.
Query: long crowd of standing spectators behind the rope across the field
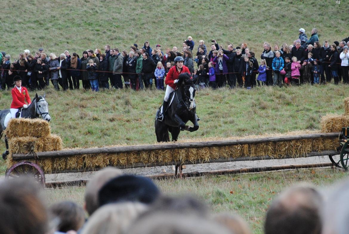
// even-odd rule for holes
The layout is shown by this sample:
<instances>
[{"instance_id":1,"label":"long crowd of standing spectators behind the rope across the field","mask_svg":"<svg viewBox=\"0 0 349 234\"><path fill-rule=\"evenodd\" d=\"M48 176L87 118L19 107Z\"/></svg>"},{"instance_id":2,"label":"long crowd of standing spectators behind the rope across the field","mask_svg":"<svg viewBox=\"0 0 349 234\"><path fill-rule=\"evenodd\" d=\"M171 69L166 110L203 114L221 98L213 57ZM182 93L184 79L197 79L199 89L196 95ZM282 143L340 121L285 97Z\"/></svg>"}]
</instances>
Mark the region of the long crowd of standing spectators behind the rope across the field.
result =
<instances>
[{"instance_id":1,"label":"long crowd of standing spectators behind the rope across the field","mask_svg":"<svg viewBox=\"0 0 349 234\"><path fill-rule=\"evenodd\" d=\"M348 45L349 38L320 44L316 28L309 39L300 28L292 45L265 42L260 60L245 42L237 47L228 44L225 50L211 40L208 51L205 41L200 40L194 51L191 36L182 43L181 50L173 46L162 51L160 44L152 48L149 41L143 47L132 44L129 52L105 45L103 53L100 49L86 50L82 56L68 50L56 56L42 48L34 53L26 49L13 62L6 52L0 53L0 85L2 89L11 88L13 77L20 75L22 85L30 89L43 89L50 80L56 90L79 89L81 80L84 89L93 91L110 87L151 89L153 83L163 90L164 79L177 56L184 58L184 65L198 78L198 88L228 85L251 89L257 85L325 84L332 80L335 84L349 83Z\"/></svg>"}]
</instances>

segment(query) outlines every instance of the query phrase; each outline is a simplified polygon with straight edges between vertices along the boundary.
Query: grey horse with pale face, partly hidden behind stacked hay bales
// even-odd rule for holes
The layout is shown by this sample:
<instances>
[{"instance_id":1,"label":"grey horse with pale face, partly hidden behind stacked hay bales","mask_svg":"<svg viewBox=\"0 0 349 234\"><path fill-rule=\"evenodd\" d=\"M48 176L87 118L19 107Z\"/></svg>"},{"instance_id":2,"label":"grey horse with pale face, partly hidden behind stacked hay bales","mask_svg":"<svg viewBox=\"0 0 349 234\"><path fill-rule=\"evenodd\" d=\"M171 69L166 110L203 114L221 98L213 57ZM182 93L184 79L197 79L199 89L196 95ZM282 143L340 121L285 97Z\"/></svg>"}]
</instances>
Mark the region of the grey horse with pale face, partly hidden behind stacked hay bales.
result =
<instances>
[{"instance_id":1,"label":"grey horse with pale face, partly hidden behind stacked hay bales","mask_svg":"<svg viewBox=\"0 0 349 234\"><path fill-rule=\"evenodd\" d=\"M32 100L31 104L28 106L27 109L22 109L22 118L39 118L40 116L45 119L46 121L50 122L51 116L49 114L49 104L47 104L44 96L38 96L38 94L35 95L34 100ZM5 109L0 111L0 138L2 137L3 131L6 129L4 122L7 114L10 113L10 109ZM5 144L6 144L6 151L2 154L2 158L6 159L8 155L8 142L7 137L5 136Z\"/></svg>"}]
</instances>

